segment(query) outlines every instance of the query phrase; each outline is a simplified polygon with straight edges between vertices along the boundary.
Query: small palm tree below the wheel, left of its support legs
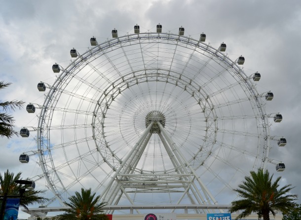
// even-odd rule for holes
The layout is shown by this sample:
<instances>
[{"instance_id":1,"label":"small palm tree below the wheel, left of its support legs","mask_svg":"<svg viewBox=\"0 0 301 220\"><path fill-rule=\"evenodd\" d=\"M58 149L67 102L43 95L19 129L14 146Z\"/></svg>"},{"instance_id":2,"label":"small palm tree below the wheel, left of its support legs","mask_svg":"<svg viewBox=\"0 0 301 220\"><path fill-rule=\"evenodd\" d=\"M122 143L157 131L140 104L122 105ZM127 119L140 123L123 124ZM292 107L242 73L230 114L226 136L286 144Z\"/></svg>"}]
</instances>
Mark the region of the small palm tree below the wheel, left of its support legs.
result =
<instances>
[{"instance_id":1,"label":"small palm tree below the wheel, left of its support legs","mask_svg":"<svg viewBox=\"0 0 301 220\"><path fill-rule=\"evenodd\" d=\"M108 220L102 207L105 203L98 203L99 196L91 194L91 188L81 188L81 193L75 192L75 195L69 197L70 203L65 205L71 209L64 210L66 213L57 216L57 220Z\"/></svg>"}]
</instances>

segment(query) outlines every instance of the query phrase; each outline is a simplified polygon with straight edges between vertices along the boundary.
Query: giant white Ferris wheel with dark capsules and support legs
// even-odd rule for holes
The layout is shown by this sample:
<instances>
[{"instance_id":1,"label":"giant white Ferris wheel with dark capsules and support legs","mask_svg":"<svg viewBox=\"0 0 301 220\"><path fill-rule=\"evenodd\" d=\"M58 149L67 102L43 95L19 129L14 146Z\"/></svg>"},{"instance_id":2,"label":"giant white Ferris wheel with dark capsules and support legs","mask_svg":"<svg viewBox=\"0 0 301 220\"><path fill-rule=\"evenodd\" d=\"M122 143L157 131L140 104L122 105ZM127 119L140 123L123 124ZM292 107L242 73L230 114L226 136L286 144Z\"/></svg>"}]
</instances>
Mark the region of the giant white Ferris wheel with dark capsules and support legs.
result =
<instances>
[{"instance_id":1,"label":"giant white Ferris wheel with dark capsules and support legs","mask_svg":"<svg viewBox=\"0 0 301 220\"><path fill-rule=\"evenodd\" d=\"M269 118L282 116L265 112L273 94L257 91L261 74L244 72L226 43L184 33L136 25L102 43L92 37L86 52L71 49L67 67L52 66L52 85L38 83L44 103L27 110L40 109L37 152L59 201L84 187L108 205L229 204L250 170L284 170L268 158L271 142L286 140L270 135Z\"/></svg>"}]
</instances>

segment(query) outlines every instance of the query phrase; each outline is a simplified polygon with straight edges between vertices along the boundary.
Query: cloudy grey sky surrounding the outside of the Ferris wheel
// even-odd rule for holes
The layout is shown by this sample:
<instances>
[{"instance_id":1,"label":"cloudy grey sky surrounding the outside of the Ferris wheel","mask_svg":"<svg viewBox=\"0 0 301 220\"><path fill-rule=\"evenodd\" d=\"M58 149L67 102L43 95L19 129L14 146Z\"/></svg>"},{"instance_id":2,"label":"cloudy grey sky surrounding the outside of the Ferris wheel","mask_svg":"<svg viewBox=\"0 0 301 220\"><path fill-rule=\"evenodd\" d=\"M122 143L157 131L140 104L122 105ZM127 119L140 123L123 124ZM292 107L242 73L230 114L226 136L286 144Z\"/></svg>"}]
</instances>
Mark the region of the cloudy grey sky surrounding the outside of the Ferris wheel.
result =
<instances>
[{"instance_id":1,"label":"cloudy grey sky surrounding the outside of the Ferris wheel","mask_svg":"<svg viewBox=\"0 0 301 220\"><path fill-rule=\"evenodd\" d=\"M212 45L226 42L228 56L244 55L245 70L258 71L262 79L258 90L272 91L274 99L266 106L271 114L280 112L281 123L271 123L271 136L283 136L285 147L272 147L270 157L283 161L286 170L281 184L296 186L301 195L301 2L291 0L1 0L0 7L0 81L12 85L0 91L0 100L23 100L41 104L39 81L53 82L53 63L68 66L72 47L84 52L89 39L105 41L113 28L126 35L139 24L141 31L163 25L163 32L198 38L204 32ZM67 55L66 55L67 54ZM15 129L37 127L36 116L26 110L11 112ZM38 174L38 164L18 161L19 154L34 150L33 138L0 139L0 172L23 172L23 177ZM39 186L43 188L42 183ZM46 195L47 196L47 195Z\"/></svg>"}]
</instances>

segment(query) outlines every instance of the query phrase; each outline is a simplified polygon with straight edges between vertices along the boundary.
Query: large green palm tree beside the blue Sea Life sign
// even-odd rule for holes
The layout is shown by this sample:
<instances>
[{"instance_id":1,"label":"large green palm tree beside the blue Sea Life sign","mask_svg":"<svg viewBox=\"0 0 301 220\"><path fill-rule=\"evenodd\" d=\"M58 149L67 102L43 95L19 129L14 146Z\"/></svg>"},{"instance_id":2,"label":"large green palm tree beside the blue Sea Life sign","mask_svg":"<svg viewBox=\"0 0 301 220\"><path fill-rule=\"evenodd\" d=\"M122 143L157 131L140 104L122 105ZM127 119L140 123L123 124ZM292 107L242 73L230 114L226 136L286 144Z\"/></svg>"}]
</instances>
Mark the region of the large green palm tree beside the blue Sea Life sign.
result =
<instances>
[{"instance_id":1,"label":"large green palm tree beside the blue Sea Life sign","mask_svg":"<svg viewBox=\"0 0 301 220\"><path fill-rule=\"evenodd\" d=\"M297 203L294 201L298 196L289 194L294 188L291 184L279 188L278 182L281 177L272 182L273 175L261 168L257 172L250 173L250 177L245 177L245 181L233 189L241 197L232 202L229 210L231 213L241 211L236 220L252 213L257 213L259 219L269 220L269 213L275 216L275 211L279 210L282 214L286 214L296 207Z\"/></svg>"}]
</instances>

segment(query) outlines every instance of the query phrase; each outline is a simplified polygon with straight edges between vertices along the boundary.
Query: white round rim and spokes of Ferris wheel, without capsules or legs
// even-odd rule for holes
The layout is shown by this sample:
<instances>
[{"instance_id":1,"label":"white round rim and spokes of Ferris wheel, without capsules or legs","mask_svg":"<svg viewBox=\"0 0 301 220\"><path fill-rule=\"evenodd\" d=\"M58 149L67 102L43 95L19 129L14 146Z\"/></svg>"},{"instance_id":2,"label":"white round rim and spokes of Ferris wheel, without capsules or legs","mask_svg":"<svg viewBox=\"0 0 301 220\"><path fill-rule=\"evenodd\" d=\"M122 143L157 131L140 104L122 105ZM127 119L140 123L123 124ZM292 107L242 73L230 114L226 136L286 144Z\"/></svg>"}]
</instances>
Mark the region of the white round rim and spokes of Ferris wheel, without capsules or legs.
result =
<instances>
[{"instance_id":1,"label":"white round rim and spokes of Ferris wheel, without capsules or legs","mask_svg":"<svg viewBox=\"0 0 301 220\"><path fill-rule=\"evenodd\" d=\"M235 62L198 40L164 33L108 40L79 55L47 94L38 133L46 180L61 201L89 181L102 193L157 111L189 165L223 197L234 178L266 161L269 131L258 95ZM155 131L134 173L179 168ZM179 200L171 195L160 202Z\"/></svg>"}]
</instances>

